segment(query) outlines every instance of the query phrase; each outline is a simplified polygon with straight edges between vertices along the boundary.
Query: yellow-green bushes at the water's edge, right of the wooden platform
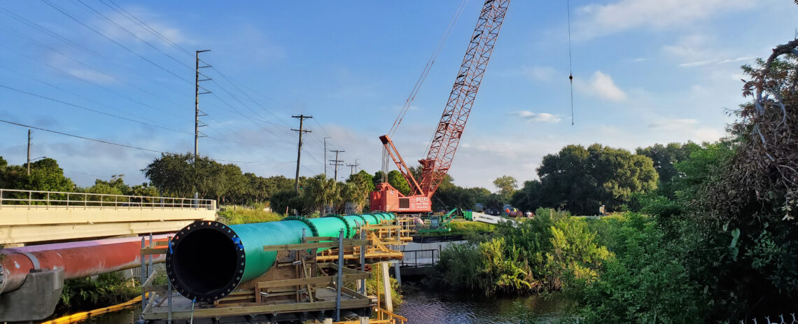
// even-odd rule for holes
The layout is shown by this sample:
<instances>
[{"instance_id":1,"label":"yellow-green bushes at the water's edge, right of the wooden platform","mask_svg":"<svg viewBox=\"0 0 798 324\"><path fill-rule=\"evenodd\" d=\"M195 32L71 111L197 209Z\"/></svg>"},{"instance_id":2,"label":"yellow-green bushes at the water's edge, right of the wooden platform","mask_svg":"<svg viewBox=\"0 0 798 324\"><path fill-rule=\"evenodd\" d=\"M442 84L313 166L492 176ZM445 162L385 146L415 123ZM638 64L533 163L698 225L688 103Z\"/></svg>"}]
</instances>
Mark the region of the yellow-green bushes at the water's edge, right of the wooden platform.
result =
<instances>
[{"instance_id":1,"label":"yellow-green bushes at the water's edge, right of the wooden platform","mask_svg":"<svg viewBox=\"0 0 798 324\"><path fill-rule=\"evenodd\" d=\"M485 294L559 289L563 279L595 279L610 257L595 243L583 220L539 210L540 216L513 225L505 222L468 244L441 251L440 281Z\"/></svg>"}]
</instances>

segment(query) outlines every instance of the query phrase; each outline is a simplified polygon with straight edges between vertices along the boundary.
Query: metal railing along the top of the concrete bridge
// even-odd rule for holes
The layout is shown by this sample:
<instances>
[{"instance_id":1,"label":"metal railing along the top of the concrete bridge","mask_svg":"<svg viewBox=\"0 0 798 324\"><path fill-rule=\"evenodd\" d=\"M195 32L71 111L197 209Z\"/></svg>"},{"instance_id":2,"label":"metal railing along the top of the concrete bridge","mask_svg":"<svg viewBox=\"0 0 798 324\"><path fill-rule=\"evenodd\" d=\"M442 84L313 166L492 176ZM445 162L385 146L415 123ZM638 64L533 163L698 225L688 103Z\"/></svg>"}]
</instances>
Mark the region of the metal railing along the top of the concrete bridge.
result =
<instances>
[{"instance_id":1,"label":"metal railing along the top of the concrete bridge","mask_svg":"<svg viewBox=\"0 0 798 324\"><path fill-rule=\"evenodd\" d=\"M0 189L0 208L216 209L216 200Z\"/></svg>"}]
</instances>

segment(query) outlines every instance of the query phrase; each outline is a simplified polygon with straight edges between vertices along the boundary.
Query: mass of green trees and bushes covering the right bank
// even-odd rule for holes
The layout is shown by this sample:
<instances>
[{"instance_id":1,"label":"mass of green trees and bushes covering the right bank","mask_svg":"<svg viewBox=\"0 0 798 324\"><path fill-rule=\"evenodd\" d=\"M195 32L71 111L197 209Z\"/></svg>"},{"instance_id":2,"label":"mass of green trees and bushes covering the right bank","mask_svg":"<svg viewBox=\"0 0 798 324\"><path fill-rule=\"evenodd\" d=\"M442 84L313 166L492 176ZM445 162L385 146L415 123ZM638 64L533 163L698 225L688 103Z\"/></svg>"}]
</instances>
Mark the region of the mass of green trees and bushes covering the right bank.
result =
<instances>
[{"instance_id":1,"label":"mass of green trees and bushes covering the right bank","mask_svg":"<svg viewBox=\"0 0 798 324\"><path fill-rule=\"evenodd\" d=\"M568 146L544 158L541 180L513 197L516 207L593 214L606 203L635 212L577 219L539 210L445 250L440 278L487 293L561 290L583 323L789 314L798 304L796 47L798 40L743 67L751 80L743 94L753 102L735 112L727 138L655 144L637 156Z\"/></svg>"}]
</instances>

